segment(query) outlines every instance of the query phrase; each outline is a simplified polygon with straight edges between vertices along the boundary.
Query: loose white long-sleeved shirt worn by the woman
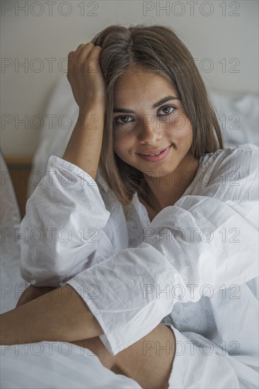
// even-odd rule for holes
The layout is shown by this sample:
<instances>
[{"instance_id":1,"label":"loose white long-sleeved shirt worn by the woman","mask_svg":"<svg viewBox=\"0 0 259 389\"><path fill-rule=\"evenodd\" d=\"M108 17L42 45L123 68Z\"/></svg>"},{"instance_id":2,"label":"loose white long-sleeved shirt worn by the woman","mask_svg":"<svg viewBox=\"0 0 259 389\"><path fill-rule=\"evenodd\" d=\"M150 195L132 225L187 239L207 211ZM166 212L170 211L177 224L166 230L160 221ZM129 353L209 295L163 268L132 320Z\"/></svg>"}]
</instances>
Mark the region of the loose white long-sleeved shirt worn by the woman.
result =
<instances>
[{"instance_id":1,"label":"loose white long-sleeved shirt worn by the woman","mask_svg":"<svg viewBox=\"0 0 259 389\"><path fill-rule=\"evenodd\" d=\"M137 193L122 207L100 174L50 156L21 233L22 277L73 286L112 354L162 321L176 338L169 388L257 387L258 146L202 156L151 222Z\"/></svg>"}]
</instances>

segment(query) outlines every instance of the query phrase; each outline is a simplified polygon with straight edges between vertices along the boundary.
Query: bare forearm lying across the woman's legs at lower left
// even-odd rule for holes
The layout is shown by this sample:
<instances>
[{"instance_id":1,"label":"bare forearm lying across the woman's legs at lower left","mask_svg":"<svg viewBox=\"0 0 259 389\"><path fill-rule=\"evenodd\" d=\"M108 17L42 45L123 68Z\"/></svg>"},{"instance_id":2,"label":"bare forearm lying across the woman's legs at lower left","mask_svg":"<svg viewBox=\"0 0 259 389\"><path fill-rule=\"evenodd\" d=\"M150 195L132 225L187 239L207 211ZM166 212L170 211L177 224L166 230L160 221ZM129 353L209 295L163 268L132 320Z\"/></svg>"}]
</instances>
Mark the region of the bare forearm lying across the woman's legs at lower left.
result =
<instances>
[{"instance_id":1,"label":"bare forearm lying across the woman's legs at lower left","mask_svg":"<svg viewBox=\"0 0 259 389\"><path fill-rule=\"evenodd\" d=\"M68 284L3 313L0 344L72 342L103 334L91 310Z\"/></svg>"}]
</instances>

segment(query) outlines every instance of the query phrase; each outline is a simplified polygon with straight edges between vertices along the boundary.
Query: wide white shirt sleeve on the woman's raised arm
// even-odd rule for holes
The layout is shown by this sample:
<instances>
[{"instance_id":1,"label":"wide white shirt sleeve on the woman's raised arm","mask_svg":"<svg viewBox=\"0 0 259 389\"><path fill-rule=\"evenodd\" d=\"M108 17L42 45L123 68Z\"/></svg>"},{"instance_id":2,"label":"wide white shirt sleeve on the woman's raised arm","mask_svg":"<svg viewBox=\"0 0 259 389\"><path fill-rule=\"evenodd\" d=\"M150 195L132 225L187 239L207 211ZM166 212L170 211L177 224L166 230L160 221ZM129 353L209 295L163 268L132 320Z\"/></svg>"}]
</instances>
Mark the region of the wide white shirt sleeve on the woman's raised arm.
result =
<instances>
[{"instance_id":1,"label":"wide white shirt sleeve on the woman's raised arm","mask_svg":"<svg viewBox=\"0 0 259 389\"><path fill-rule=\"evenodd\" d=\"M50 156L21 222L23 279L35 286L63 286L127 248L125 215L122 209L112 211L114 202L104 202L104 196L102 185L91 175Z\"/></svg>"}]
</instances>

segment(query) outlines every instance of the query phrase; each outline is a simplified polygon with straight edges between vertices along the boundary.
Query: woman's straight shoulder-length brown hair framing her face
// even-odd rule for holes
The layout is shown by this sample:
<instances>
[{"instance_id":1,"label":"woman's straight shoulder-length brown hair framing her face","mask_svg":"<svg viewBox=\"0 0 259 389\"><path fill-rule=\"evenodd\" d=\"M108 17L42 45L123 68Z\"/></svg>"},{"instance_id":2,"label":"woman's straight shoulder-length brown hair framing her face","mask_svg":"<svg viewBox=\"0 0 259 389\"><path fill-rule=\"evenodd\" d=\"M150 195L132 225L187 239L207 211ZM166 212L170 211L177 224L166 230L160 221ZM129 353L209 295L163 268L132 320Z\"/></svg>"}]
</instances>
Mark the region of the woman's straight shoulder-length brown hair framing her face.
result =
<instances>
[{"instance_id":1,"label":"woman's straight shoulder-length brown hair framing her face","mask_svg":"<svg viewBox=\"0 0 259 389\"><path fill-rule=\"evenodd\" d=\"M98 170L121 204L127 205L137 192L148 202L144 174L122 161L113 149L113 93L115 82L129 66L140 66L166 76L178 90L185 114L192 124L190 156L223 149L217 116L205 84L189 50L164 25L110 25L91 42L102 47L100 67L106 83L107 107Z\"/></svg>"}]
</instances>

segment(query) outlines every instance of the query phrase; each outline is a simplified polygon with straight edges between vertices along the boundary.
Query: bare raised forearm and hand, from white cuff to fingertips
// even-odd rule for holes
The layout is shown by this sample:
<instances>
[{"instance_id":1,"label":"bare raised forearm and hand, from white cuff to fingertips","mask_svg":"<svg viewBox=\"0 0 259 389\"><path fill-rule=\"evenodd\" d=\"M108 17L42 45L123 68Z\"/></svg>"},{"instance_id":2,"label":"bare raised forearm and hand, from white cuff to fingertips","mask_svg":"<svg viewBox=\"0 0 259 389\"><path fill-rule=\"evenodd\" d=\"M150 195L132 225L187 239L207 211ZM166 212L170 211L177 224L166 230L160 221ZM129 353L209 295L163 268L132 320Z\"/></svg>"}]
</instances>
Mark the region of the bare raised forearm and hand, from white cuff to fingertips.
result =
<instances>
[{"instance_id":1,"label":"bare raised forearm and hand, from white cuff to fingertips","mask_svg":"<svg viewBox=\"0 0 259 389\"><path fill-rule=\"evenodd\" d=\"M79 118L63 159L84 169L96 180L103 141L105 81L99 63L100 47L88 42L69 53L67 79L79 105Z\"/></svg>"}]
</instances>

